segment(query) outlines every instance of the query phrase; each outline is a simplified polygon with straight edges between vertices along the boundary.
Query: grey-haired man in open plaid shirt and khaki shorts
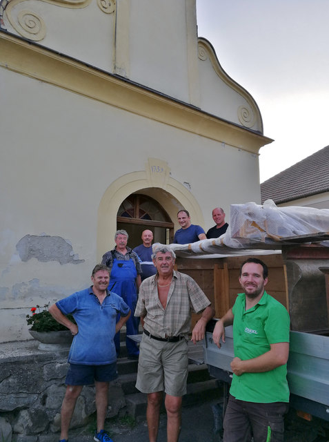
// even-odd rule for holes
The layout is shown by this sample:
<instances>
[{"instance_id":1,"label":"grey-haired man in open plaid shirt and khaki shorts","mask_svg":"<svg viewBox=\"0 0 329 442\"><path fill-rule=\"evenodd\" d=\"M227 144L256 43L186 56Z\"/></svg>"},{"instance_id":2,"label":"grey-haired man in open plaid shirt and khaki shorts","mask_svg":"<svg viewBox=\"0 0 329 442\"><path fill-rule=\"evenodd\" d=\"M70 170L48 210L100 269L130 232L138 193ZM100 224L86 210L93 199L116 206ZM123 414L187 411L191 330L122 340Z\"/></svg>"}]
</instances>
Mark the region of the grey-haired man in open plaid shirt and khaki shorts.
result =
<instances>
[{"instance_id":1,"label":"grey-haired man in open plaid shirt and khaki shorts","mask_svg":"<svg viewBox=\"0 0 329 442\"><path fill-rule=\"evenodd\" d=\"M167 441L177 442L181 427L181 401L188 377L188 334L192 312L202 316L192 330L196 343L205 336L214 309L195 280L174 271L175 253L162 246L152 255L157 274L144 280L134 316L141 317L136 387L148 394L148 436L157 441L163 392L168 417Z\"/></svg>"}]
</instances>

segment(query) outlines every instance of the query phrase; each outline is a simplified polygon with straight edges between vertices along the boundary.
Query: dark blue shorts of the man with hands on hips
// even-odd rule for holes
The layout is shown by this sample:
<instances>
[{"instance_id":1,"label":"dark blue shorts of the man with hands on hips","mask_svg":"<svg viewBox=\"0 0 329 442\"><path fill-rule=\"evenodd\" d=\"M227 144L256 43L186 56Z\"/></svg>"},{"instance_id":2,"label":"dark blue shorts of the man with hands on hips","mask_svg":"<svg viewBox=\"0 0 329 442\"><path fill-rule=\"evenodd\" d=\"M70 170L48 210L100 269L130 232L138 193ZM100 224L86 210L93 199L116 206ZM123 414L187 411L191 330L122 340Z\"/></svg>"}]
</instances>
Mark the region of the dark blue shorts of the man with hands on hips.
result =
<instances>
[{"instance_id":1,"label":"dark blue shorts of the man with hands on hips","mask_svg":"<svg viewBox=\"0 0 329 442\"><path fill-rule=\"evenodd\" d=\"M117 362L106 365L70 364L66 385L91 385L94 381L110 382L117 379Z\"/></svg>"}]
</instances>

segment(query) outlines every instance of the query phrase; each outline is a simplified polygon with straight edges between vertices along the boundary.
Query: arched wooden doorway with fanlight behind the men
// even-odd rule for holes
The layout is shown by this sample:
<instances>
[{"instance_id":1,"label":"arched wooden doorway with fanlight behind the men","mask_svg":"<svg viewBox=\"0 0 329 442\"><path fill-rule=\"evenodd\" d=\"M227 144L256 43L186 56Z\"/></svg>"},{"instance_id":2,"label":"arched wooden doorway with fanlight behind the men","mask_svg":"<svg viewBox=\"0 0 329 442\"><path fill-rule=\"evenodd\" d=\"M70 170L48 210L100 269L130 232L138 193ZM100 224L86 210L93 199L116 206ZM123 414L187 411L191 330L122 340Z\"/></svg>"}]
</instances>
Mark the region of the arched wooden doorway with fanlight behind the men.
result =
<instances>
[{"instance_id":1,"label":"arched wooden doorway with fanlight behind the men","mask_svg":"<svg viewBox=\"0 0 329 442\"><path fill-rule=\"evenodd\" d=\"M117 212L117 229L128 232L131 248L141 244L141 233L145 229L150 229L154 242L161 244L169 244L174 236L174 223L168 213L156 200L141 193L132 193L123 200Z\"/></svg>"}]
</instances>

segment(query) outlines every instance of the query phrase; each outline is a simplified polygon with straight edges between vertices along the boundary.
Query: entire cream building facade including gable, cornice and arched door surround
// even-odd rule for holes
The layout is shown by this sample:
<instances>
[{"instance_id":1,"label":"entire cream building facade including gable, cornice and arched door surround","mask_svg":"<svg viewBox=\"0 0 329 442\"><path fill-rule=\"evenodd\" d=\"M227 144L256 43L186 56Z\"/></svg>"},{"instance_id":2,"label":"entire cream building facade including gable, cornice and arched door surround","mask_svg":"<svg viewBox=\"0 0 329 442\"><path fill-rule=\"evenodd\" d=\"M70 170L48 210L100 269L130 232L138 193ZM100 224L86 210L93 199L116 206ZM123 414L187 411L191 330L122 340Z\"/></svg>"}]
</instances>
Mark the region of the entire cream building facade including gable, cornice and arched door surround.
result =
<instances>
[{"instance_id":1,"label":"entire cream building facade including gable, cornice and arched door surround","mask_svg":"<svg viewBox=\"0 0 329 442\"><path fill-rule=\"evenodd\" d=\"M143 0L144 15L128 0L119 0L112 12L96 1L67 8L24 1L45 23L62 19L70 26L56 38L47 26L40 43L51 50L21 39L14 28L17 37L0 32L2 341L29 338L30 307L88 285L92 267L113 247L117 210L130 193L158 200L176 228L183 206L193 223L208 229L215 206L229 217L230 204L260 201L258 153L271 141L262 135L257 104L221 72L204 41L199 44L207 57L200 57L194 0L159 2L157 8ZM20 3L12 0L12 15L19 17ZM156 32L159 10L170 35L161 23L152 39L148 32ZM118 40L112 37L114 12ZM81 43L69 41L75 19L86 24L85 15L103 32L100 46L89 31ZM145 21L142 29L134 17ZM174 30L179 41L172 48ZM59 48L60 54L53 51ZM120 75L125 68L125 76L141 84L110 75L111 66ZM248 117L239 118L241 106L254 113L252 126Z\"/></svg>"}]
</instances>

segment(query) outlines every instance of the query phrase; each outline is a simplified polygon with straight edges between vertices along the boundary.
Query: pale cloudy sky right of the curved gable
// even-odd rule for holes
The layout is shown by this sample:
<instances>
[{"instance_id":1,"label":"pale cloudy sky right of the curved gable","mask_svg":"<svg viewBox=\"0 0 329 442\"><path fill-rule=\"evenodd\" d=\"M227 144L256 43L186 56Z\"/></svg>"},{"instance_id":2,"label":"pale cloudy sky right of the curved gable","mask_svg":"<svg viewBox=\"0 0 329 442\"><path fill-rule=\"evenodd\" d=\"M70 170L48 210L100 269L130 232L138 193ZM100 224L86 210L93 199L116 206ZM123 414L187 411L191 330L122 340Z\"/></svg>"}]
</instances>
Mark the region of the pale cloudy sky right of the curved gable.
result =
<instances>
[{"instance_id":1,"label":"pale cloudy sky right of the curved gable","mask_svg":"<svg viewBox=\"0 0 329 442\"><path fill-rule=\"evenodd\" d=\"M275 140L261 182L328 146L329 0L197 0L197 22Z\"/></svg>"}]
</instances>

